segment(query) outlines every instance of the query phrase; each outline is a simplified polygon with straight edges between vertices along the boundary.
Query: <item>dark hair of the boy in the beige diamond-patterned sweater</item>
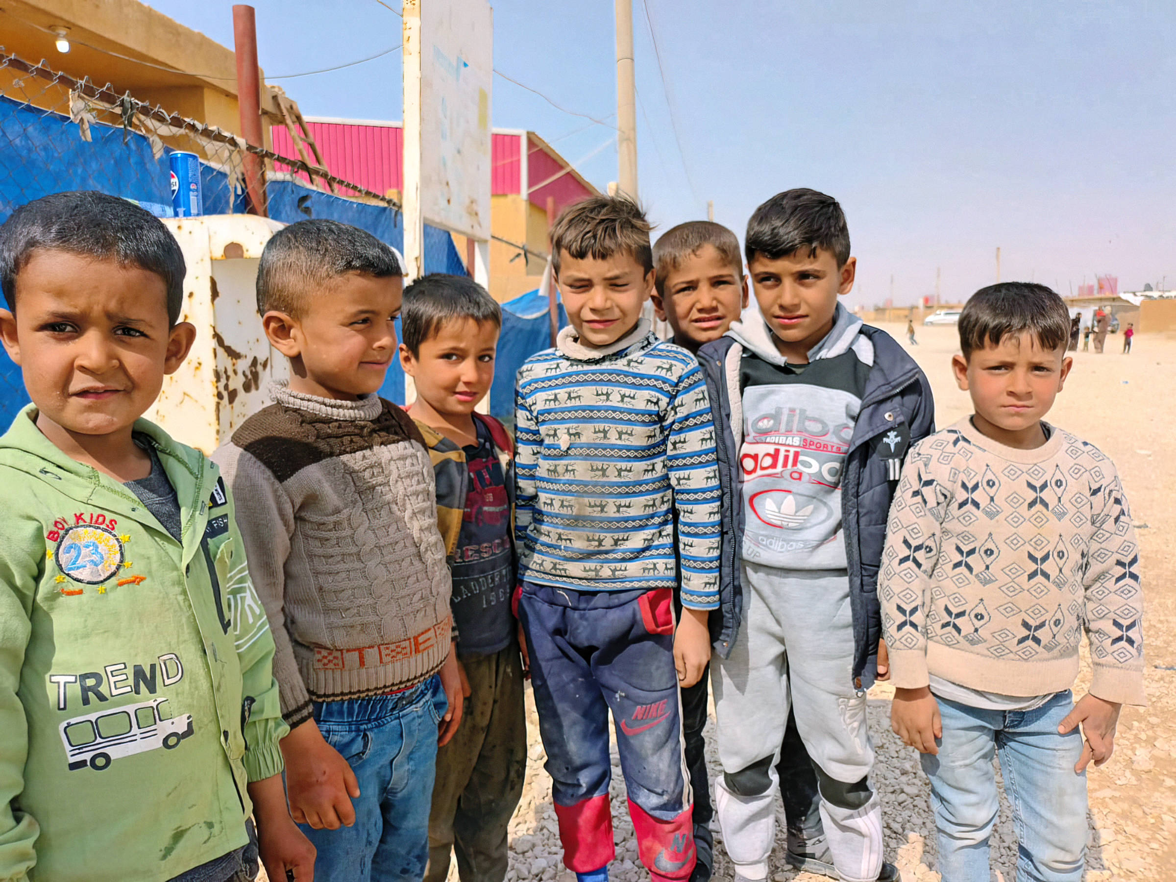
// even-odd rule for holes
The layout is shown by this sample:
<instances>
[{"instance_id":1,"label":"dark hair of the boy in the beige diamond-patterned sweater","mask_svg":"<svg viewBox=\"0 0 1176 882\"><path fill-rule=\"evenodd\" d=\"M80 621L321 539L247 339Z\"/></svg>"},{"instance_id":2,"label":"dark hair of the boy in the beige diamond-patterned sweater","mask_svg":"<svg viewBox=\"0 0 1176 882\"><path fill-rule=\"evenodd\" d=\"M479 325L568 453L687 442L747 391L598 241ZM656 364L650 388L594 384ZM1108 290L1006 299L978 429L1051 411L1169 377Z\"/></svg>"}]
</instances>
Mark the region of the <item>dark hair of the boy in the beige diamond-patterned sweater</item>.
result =
<instances>
[{"instance_id":1,"label":"dark hair of the boy in the beige diamond-patterned sweater","mask_svg":"<svg viewBox=\"0 0 1176 882\"><path fill-rule=\"evenodd\" d=\"M1042 349L1065 348L1070 310L1051 288L1035 282L997 282L981 288L960 313L960 349L969 358L989 343L1029 333Z\"/></svg>"}]
</instances>

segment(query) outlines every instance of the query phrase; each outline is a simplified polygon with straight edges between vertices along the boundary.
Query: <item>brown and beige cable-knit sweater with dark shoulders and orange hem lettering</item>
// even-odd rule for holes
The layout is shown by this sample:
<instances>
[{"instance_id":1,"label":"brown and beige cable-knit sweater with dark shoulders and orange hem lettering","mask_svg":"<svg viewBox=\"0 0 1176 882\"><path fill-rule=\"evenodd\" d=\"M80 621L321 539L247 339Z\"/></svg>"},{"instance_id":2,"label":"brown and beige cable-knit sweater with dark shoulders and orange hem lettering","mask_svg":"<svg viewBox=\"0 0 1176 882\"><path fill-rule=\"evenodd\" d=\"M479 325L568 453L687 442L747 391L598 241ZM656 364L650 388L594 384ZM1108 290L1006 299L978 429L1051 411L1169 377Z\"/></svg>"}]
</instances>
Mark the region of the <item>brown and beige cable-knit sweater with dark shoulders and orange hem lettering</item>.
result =
<instances>
[{"instance_id":1,"label":"brown and beige cable-knit sweater with dark shoulders and orange hem lettering","mask_svg":"<svg viewBox=\"0 0 1176 882\"><path fill-rule=\"evenodd\" d=\"M449 652L449 569L420 432L372 395L273 390L213 455L236 500L293 728L310 701L406 689Z\"/></svg>"}]
</instances>

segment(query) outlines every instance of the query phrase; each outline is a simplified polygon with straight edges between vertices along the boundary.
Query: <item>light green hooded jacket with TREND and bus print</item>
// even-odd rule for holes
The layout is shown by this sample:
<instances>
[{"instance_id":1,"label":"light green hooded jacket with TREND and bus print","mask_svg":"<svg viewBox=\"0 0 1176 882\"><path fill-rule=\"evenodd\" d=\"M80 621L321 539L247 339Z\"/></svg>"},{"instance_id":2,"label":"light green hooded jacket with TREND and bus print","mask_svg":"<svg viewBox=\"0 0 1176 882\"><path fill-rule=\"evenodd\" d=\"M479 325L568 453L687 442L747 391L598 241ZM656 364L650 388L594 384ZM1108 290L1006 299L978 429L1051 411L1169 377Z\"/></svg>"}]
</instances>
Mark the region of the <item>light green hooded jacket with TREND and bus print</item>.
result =
<instances>
[{"instance_id":1,"label":"light green hooded jacket with TREND and bus print","mask_svg":"<svg viewBox=\"0 0 1176 882\"><path fill-rule=\"evenodd\" d=\"M274 641L216 466L146 420L182 544L26 408L0 437L0 880L167 880L282 770Z\"/></svg>"}]
</instances>

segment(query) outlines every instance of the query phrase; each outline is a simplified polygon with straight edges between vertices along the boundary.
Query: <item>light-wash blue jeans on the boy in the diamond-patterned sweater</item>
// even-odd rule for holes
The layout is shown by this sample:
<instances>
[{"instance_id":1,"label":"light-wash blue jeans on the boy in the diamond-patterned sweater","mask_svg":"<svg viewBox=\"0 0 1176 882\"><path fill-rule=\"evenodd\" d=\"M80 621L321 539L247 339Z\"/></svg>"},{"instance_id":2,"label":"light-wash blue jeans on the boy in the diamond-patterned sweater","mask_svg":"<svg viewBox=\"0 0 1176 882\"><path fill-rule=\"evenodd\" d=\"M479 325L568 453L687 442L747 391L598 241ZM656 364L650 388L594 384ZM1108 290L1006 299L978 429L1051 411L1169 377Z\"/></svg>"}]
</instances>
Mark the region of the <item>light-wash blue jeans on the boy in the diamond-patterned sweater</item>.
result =
<instances>
[{"instance_id":1,"label":"light-wash blue jeans on the boy in the diamond-patterned sweater","mask_svg":"<svg viewBox=\"0 0 1176 882\"><path fill-rule=\"evenodd\" d=\"M1081 882L1087 844L1087 776L1077 729L1058 735L1069 691L1035 710L982 710L936 697L943 721L931 780L943 882L988 882L988 837L998 808L994 755L1017 834L1017 882Z\"/></svg>"}]
</instances>

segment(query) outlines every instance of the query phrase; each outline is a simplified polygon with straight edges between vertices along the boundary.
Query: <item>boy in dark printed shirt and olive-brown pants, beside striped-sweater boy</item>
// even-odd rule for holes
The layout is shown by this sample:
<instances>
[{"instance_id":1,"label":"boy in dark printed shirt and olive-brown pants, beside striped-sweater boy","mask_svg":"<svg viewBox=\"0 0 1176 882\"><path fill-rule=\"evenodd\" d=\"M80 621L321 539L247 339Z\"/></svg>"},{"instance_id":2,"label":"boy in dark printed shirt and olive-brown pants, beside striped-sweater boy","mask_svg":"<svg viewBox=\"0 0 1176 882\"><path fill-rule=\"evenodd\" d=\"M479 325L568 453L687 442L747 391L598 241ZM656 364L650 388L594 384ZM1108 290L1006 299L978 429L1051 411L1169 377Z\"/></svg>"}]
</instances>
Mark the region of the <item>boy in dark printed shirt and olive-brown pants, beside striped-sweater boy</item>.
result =
<instances>
[{"instance_id":1,"label":"boy in dark printed shirt and olive-brown pants, beside striped-sweater boy","mask_svg":"<svg viewBox=\"0 0 1176 882\"><path fill-rule=\"evenodd\" d=\"M457 663L468 686L461 728L437 749L425 882L445 881L450 851L462 882L502 882L507 824L527 774L523 659L510 610L514 448L502 423L474 410L494 382L502 310L469 276L433 273L405 289L400 327L400 363L416 381L408 415L436 476Z\"/></svg>"}]
</instances>

